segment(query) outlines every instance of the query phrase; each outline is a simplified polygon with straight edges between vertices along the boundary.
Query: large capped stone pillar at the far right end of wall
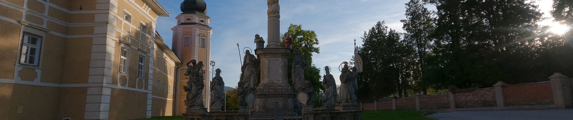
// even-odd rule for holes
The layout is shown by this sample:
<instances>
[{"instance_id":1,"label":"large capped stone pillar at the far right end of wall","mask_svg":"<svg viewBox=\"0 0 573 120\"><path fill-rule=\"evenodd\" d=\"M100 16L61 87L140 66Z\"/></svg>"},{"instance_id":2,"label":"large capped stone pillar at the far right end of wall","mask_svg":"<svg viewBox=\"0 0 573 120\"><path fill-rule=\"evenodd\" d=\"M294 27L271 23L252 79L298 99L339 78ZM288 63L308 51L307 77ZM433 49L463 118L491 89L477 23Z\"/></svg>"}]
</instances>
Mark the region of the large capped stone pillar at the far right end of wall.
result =
<instances>
[{"instance_id":1,"label":"large capped stone pillar at the far right end of wall","mask_svg":"<svg viewBox=\"0 0 573 120\"><path fill-rule=\"evenodd\" d=\"M555 106L562 109L573 107L571 79L561 73L554 73L548 78L551 81Z\"/></svg>"}]
</instances>

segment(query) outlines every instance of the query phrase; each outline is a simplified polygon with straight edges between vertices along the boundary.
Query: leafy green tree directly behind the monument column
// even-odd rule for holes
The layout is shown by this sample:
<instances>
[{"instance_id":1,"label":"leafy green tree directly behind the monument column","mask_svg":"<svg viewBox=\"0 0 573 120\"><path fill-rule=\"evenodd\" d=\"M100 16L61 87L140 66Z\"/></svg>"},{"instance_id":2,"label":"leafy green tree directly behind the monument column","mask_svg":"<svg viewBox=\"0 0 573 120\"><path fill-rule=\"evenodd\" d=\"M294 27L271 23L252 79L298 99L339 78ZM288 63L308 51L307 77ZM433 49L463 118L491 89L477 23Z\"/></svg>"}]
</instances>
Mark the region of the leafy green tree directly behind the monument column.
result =
<instances>
[{"instance_id":1,"label":"leafy green tree directly behind the monument column","mask_svg":"<svg viewBox=\"0 0 573 120\"><path fill-rule=\"evenodd\" d=\"M302 53L305 60L308 61L309 65L304 68L304 79L311 82L312 87L315 91L315 107L322 106L322 97L319 97L320 93L324 91L322 82L320 81L320 69L312 64L312 53L320 53L320 48L316 47L319 44L319 40L316 38L315 31L303 30L302 25L291 24L287 31L292 36L292 49L298 49ZM282 44L282 42L281 42ZM295 53L291 53L288 59L288 73L292 73L292 60L295 57ZM289 84L292 85L292 75L288 74Z\"/></svg>"}]
</instances>

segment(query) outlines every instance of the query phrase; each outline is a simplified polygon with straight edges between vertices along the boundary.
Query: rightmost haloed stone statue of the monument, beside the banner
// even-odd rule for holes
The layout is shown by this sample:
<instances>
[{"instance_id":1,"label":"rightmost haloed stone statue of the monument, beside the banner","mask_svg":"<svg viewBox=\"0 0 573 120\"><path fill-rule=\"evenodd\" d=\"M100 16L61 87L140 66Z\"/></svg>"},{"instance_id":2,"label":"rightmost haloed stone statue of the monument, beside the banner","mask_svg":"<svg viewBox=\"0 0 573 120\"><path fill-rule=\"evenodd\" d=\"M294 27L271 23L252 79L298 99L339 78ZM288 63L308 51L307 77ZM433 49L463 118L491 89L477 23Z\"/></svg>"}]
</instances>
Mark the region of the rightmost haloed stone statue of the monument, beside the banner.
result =
<instances>
[{"instance_id":1,"label":"rightmost haloed stone statue of the monument, beside the banner","mask_svg":"<svg viewBox=\"0 0 573 120\"><path fill-rule=\"evenodd\" d=\"M353 67L354 68L354 67ZM342 103L352 103L356 105L356 70L350 71L347 64L344 64L340 73L340 100Z\"/></svg>"}]
</instances>

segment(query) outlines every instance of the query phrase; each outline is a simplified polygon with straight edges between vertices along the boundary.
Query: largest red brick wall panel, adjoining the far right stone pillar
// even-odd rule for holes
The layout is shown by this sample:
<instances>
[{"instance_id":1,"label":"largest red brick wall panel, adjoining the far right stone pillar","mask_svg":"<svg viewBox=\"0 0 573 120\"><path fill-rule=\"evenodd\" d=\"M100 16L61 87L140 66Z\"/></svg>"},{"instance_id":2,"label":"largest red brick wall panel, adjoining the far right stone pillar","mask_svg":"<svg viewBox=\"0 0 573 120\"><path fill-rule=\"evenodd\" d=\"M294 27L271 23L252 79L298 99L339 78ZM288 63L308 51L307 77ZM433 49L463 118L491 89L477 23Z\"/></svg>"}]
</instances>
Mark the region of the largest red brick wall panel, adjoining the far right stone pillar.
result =
<instances>
[{"instance_id":1,"label":"largest red brick wall panel, adjoining the far right stone pillar","mask_svg":"<svg viewBox=\"0 0 573 120\"><path fill-rule=\"evenodd\" d=\"M552 105L551 82L507 85L503 88L505 106Z\"/></svg>"}]
</instances>

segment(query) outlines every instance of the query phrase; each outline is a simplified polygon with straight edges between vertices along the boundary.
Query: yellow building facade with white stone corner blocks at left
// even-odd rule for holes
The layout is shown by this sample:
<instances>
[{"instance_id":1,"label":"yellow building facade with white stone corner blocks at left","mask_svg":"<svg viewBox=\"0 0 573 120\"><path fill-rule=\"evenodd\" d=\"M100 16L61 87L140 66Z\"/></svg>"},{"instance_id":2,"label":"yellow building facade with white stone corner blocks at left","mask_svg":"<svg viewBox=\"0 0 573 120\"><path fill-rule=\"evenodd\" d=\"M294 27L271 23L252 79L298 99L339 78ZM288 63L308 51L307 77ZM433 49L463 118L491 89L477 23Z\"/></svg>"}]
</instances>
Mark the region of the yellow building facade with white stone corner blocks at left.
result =
<instances>
[{"instance_id":1,"label":"yellow building facade with white stone corner blocks at left","mask_svg":"<svg viewBox=\"0 0 573 120\"><path fill-rule=\"evenodd\" d=\"M0 119L174 115L156 0L0 0Z\"/></svg>"}]
</instances>

